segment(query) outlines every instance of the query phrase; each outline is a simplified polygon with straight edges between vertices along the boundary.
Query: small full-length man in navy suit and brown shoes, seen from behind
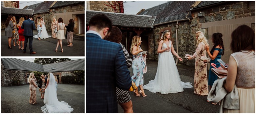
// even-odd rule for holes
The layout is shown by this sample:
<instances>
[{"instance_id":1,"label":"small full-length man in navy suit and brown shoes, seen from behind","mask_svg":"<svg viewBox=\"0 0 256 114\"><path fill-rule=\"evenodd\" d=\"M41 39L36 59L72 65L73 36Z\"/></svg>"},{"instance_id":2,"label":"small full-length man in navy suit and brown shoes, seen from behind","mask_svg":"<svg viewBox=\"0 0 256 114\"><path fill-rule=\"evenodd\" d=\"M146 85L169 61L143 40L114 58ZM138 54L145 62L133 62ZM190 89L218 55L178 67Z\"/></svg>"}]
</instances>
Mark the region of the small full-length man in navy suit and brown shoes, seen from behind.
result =
<instances>
[{"instance_id":1,"label":"small full-length man in navy suit and brown shoes, seen from behind","mask_svg":"<svg viewBox=\"0 0 256 114\"><path fill-rule=\"evenodd\" d=\"M32 48L32 42L33 42L33 29L36 30L35 28L35 23L33 20L33 16L29 16L29 19L26 21L23 21L21 28L24 29L24 33L23 35L25 36L25 44L24 44L24 50L23 53L26 53L27 50L27 44L28 44L28 40L29 40L29 50L30 50L30 54L35 54L36 52L33 51Z\"/></svg>"}]
</instances>

